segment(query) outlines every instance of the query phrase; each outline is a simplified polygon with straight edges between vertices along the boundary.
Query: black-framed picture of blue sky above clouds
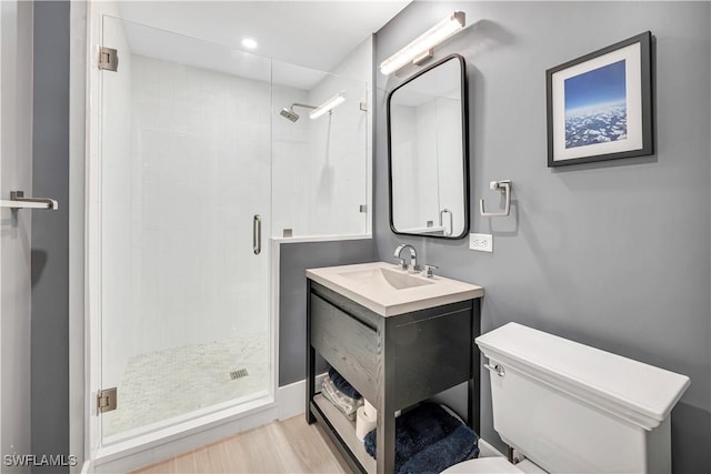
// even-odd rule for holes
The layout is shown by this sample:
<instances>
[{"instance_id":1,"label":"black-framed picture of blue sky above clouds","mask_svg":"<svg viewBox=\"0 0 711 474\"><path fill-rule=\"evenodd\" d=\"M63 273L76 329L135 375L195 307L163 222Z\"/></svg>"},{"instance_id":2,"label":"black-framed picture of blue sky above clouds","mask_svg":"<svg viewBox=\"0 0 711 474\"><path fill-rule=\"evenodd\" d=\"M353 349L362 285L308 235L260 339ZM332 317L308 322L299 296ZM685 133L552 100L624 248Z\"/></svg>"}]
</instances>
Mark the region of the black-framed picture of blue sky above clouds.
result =
<instances>
[{"instance_id":1,"label":"black-framed picture of blue sky above clouds","mask_svg":"<svg viewBox=\"0 0 711 474\"><path fill-rule=\"evenodd\" d=\"M548 165L654 152L647 31L545 71Z\"/></svg>"}]
</instances>

